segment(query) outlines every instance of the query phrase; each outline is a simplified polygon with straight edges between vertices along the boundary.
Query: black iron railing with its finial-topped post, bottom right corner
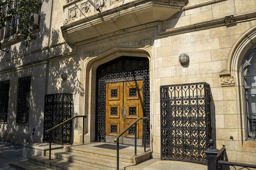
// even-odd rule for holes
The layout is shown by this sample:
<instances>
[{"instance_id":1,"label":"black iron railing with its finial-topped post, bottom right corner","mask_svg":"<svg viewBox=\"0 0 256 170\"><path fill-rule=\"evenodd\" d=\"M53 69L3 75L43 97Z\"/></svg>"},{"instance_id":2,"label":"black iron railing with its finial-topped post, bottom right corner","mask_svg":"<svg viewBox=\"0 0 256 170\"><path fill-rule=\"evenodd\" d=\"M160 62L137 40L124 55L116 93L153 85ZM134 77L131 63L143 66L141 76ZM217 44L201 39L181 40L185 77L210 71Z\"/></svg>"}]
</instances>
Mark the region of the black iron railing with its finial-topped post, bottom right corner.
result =
<instances>
[{"instance_id":1,"label":"black iron railing with its finial-topped post, bottom right corner","mask_svg":"<svg viewBox=\"0 0 256 170\"><path fill-rule=\"evenodd\" d=\"M230 167L233 167L235 170L250 170L250 168L256 168L255 164L243 164L228 161L226 148L224 145L220 150L218 150L213 147L213 139L209 140L209 144L210 147L204 151L206 154L208 170L230 170Z\"/></svg>"}]
</instances>

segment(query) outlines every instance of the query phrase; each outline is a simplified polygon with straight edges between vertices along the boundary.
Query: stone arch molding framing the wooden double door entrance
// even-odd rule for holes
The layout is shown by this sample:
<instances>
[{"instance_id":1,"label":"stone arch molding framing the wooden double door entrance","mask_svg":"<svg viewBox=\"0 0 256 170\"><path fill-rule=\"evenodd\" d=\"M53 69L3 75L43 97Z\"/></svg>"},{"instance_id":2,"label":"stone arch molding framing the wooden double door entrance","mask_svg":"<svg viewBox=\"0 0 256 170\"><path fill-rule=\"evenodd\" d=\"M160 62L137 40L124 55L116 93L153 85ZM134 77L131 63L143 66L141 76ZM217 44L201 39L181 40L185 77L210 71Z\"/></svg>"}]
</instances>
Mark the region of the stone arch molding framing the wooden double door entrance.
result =
<instances>
[{"instance_id":1,"label":"stone arch molding framing the wooden double door entrance","mask_svg":"<svg viewBox=\"0 0 256 170\"><path fill-rule=\"evenodd\" d=\"M113 47L95 56L86 57L84 62L84 107L83 113L87 115L87 135L90 142L95 139L95 116L96 116L96 70L99 65L109 62L121 56L145 57L149 60L151 72L152 54L148 48ZM152 74L150 73L150 76ZM150 79L151 81L151 79Z\"/></svg>"}]
</instances>

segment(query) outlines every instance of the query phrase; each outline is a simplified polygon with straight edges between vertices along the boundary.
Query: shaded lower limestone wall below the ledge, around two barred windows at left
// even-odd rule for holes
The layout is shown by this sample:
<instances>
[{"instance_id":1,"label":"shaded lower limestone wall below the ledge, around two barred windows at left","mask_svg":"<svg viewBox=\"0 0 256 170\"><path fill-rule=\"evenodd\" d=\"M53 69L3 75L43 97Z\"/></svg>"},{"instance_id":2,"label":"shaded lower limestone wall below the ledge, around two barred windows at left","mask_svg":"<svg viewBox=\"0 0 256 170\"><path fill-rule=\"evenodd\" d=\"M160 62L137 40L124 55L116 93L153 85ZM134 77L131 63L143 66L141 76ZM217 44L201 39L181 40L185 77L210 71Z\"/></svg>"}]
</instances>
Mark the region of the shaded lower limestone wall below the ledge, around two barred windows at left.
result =
<instances>
[{"instance_id":1,"label":"shaded lower limestone wall below the ledge, around two barred windows at left","mask_svg":"<svg viewBox=\"0 0 256 170\"><path fill-rule=\"evenodd\" d=\"M0 140L16 144L43 141L44 94L46 65L36 65L0 74L0 80L10 80L7 122L0 122ZM20 77L31 76L29 123L17 124L17 85ZM35 130L33 130L35 129Z\"/></svg>"}]
</instances>

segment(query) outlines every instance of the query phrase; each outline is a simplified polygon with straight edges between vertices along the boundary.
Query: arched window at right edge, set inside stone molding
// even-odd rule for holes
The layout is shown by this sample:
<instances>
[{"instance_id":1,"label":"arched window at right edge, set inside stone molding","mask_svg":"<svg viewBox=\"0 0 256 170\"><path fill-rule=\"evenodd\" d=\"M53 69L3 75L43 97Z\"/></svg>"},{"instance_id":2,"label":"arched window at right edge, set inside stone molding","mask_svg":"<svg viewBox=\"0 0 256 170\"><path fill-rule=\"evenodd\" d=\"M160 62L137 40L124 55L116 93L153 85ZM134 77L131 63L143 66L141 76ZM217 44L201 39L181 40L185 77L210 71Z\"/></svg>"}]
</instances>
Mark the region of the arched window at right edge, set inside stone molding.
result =
<instances>
[{"instance_id":1,"label":"arched window at right edge, set inside stone molding","mask_svg":"<svg viewBox=\"0 0 256 170\"><path fill-rule=\"evenodd\" d=\"M248 51L241 69L247 139L256 140L256 45Z\"/></svg>"}]
</instances>

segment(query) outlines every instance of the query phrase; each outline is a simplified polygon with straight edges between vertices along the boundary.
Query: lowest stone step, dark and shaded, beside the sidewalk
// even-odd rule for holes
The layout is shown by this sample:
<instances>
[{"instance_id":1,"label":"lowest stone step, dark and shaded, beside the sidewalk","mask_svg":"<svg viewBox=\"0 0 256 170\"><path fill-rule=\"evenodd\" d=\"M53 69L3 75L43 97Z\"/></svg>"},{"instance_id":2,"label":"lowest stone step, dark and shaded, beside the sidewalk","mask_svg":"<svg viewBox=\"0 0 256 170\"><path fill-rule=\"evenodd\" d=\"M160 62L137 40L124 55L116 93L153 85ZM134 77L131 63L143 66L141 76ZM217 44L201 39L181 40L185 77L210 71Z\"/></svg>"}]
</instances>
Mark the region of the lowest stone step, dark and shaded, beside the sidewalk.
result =
<instances>
[{"instance_id":1,"label":"lowest stone step, dark and shaded, beside the sidewalk","mask_svg":"<svg viewBox=\"0 0 256 170\"><path fill-rule=\"evenodd\" d=\"M38 164L30 163L28 159L23 159L21 161L14 161L9 163L10 166L19 168L20 170L52 170Z\"/></svg>"}]
</instances>

